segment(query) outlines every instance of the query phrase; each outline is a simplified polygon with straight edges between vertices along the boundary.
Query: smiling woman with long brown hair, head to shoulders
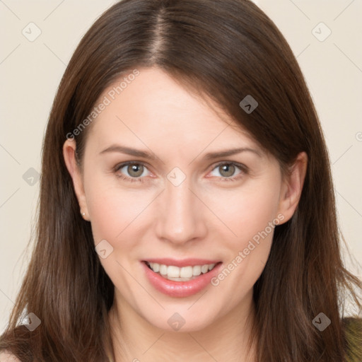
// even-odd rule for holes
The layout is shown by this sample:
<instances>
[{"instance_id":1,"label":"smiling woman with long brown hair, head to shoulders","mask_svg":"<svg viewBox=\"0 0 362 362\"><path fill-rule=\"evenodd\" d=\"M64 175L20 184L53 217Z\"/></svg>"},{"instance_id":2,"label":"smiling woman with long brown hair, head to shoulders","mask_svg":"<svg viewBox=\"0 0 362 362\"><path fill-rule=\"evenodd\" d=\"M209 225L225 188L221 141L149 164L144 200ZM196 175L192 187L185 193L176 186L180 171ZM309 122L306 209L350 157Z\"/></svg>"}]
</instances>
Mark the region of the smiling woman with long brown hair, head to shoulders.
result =
<instances>
[{"instance_id":1,"label":"smiling woman with long brown hair, head to shoulders","mask_svg":"<svg viewBox=\"0 0 362 362\"><path fill-rule=\"evenodd\" d=\"M1 361L361 361L315 107L250 1L95 22L49 117L38 222Z\"/></svg>"}]
</instances>

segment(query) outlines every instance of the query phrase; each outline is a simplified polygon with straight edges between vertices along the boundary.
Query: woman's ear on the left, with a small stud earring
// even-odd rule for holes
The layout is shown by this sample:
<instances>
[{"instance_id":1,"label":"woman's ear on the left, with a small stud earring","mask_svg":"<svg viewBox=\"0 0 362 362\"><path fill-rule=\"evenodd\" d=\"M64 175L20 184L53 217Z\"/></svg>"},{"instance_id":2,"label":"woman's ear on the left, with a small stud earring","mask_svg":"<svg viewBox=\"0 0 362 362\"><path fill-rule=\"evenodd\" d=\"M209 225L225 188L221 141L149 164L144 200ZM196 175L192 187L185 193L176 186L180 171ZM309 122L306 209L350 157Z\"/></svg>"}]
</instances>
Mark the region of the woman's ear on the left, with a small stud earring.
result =
<instances>
[{"instance_id":1,"label":"woman's ear on the left, with a small stud earring","mask_svg":"<svg viewBox=\"0 0 362 362\"><path fill-rule=\"evenodd\" d=\"M81 170L76 163L76 141L74 139L67 139L63 145L63 156L66 168L73 180L74 192L78 199L81 214L86 221L89 220L88 206L86 202L86 193L84 192L83 176Z\"/></svg>"}]
</instances>

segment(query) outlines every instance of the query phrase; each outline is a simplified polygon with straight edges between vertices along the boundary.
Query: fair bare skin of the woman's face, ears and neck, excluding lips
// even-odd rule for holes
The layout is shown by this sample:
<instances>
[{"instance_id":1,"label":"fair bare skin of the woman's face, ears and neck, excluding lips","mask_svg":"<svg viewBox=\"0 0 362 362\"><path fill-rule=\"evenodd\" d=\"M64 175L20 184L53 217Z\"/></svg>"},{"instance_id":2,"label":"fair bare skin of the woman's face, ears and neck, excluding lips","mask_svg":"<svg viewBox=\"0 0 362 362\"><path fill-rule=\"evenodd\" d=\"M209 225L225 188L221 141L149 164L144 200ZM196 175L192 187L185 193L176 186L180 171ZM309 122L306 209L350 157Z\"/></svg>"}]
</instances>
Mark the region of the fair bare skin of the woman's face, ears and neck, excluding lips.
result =
<instances>
[{"instance_id":1,"label":"fair bare skin of the woman's face, ears and neck, excluding lips","mask_svg":"<svg viewBox=\"0 0 362 362\"><path fill-rule=\"evenodd\" d=\"M187 298L156 291L140 263L151 257L201 257L227 266L268 223L278 216L285 223L296 210L305 153L283 177L278 161L211 105L160 69L141 69L92 124L81 170L74 159L76 141L64 143L66 167L95 245L107 240L113 247L100 262L115 284L109 317L117 362L255 361L254 345L249 358L245 352L255 313L252 286L269 256L273 231L217 286ZM113 144L147 151L156 159L101 153ZM240 147L259 154L204 158ZM145 168L115 170L127 161ZM239 163L247 171L235 165L228 174L217 166L220 162ZM178 186L167 178L175 167L186 176ZM226 180L230 177L235 180ZM168 325L176 312L185 320L178 332Z\"/></svg>"}]
</instances>

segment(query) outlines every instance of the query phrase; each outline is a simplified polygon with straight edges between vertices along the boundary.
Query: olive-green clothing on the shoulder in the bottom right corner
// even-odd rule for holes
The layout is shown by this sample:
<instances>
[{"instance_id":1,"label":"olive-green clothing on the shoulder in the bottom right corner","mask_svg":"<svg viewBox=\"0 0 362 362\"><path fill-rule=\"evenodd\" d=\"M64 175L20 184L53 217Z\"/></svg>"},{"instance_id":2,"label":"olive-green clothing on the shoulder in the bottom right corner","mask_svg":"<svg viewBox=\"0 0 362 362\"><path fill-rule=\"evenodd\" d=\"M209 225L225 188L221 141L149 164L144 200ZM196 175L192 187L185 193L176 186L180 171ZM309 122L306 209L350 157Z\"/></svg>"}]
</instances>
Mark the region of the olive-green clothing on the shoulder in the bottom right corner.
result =
<instances>
[{"instance_id":1,"label":"olive-green clothing on the shoulder in the bottom right corner","mask_svg":"<svg viewBox=\"0 0 362 362\"><path fill-rule=\"evenodd\" d=\"M349 357L347 361L362 361L362 318L346 317L342 323Z\"/></svg>"}]
</instances>

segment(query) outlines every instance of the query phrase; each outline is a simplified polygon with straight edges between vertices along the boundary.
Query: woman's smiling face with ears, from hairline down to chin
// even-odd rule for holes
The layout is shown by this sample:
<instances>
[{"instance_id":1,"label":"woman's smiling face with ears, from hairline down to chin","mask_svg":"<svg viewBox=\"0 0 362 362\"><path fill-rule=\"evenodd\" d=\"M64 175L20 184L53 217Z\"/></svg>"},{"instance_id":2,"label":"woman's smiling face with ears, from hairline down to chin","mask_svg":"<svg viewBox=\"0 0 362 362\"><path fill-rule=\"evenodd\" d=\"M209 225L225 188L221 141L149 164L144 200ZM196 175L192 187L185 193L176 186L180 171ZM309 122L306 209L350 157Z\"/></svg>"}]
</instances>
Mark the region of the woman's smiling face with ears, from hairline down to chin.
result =
<instances>
[{"instance_id":1,"label":"woman's smiling face with ears, from hairline down to chin","mask_svg":"<svg viewBox=\"0 0 362 362\"><path fill-rule=\"evenodd\" d=\"M284 180L226 114L162 71L131 78L100 97L83 173L74 141L64 157L117 302L161 329L177 318L184 331L202 329L250 305L274 227L293 214L303 180L298 168ZM194 279L168 280L146 266L155 259L166 259L158 264L168 277ZM216 266L204 274L206 264Z\"/></svg>"}]
</instances>

